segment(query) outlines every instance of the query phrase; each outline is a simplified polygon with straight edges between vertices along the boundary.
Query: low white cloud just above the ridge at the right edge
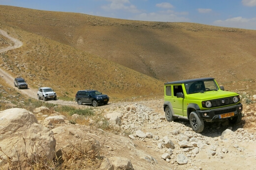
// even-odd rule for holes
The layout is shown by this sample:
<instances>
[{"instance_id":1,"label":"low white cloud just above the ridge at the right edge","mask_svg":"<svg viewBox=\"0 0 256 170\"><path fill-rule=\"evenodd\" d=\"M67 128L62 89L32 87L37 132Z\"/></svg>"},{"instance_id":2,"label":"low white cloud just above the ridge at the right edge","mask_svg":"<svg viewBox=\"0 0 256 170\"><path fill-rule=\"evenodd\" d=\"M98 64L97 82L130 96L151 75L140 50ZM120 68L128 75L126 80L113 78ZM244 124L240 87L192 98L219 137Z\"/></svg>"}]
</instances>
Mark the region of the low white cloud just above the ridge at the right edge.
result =
<instances>
[{"instance_id":1,"label":"low white cloud just above the ridge at the right edge","mask_svg":"<svg viewBox=\"0 0 256 170\"><path fill-rule=\"evenodd\" d=\"M215 25L233 28L256 29L256 18L247 19L242 17L229 18L227 20L217 20Z\"/></svg>"}]
</instances>

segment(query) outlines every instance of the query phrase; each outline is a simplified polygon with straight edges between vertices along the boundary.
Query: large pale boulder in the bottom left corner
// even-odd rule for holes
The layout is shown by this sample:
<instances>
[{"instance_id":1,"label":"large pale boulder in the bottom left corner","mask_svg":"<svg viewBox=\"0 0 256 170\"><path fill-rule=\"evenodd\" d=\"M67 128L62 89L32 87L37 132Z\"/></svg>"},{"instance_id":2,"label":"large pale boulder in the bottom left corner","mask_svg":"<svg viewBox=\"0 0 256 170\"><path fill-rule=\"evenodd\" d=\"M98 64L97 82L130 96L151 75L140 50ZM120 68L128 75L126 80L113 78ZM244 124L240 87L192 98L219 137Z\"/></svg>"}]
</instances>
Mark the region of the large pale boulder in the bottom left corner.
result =
<instances>
[{"instance_id":1,"label":"large pale boulder in the bottom left corner","mask_svg":"<svg viewBox=\"0 0 256 170\"><path fill-rule=\"evenodd\" d=\"M12 108L0 112L0 167L30 167L34 159L52 161L56 140L53 132L38 124L32 112ZM27 156L25 156L27 154ZM12 167L12 168L13 168Z\"/></svg>"}]
</instances>

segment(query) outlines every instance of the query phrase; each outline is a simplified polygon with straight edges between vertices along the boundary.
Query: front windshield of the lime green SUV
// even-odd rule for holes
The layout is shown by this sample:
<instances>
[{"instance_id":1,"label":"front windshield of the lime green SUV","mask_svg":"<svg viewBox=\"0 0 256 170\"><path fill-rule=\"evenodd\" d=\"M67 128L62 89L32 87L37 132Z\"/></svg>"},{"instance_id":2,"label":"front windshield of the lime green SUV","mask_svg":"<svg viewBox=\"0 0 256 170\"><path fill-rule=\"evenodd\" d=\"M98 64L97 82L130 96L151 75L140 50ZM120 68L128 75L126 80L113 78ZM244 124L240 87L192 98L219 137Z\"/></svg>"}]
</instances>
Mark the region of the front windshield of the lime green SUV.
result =
<instances>
[{"instance_id":1,"label":"front windshield of the lime green SUV","mask_svg":"<svg viewBox=\"0 0 256 170\"><path fill-rule=\"evenodd\" d=\"M185 83L187 94L204 93L206 91L218 90L214 80L194 81Z\"/></svg>"}]
</instances>

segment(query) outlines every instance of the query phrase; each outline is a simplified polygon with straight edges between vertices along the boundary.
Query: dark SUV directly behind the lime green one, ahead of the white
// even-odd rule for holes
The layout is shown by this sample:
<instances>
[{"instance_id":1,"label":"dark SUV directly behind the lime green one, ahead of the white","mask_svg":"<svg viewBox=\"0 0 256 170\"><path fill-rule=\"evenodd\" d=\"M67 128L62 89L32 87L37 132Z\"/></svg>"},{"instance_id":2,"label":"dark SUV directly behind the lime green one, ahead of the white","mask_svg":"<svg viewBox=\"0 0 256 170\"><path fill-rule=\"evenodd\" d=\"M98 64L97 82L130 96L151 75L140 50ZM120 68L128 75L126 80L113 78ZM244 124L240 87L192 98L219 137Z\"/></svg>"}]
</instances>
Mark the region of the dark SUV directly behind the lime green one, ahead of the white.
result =
<instances>
[{"instance_id":1,"label":"dark SUV directly behind the lime green one, ahead of the white","mask_svg":"<svg viewBox=\"0 0 256 170\"><path fill-rule=\"evenodd\" d=\"M79 105L86 103L97 107L98 104L107 104L109 97L96 90L79 90L75 95L75 101Z\"/></svg>"}]
</instances>

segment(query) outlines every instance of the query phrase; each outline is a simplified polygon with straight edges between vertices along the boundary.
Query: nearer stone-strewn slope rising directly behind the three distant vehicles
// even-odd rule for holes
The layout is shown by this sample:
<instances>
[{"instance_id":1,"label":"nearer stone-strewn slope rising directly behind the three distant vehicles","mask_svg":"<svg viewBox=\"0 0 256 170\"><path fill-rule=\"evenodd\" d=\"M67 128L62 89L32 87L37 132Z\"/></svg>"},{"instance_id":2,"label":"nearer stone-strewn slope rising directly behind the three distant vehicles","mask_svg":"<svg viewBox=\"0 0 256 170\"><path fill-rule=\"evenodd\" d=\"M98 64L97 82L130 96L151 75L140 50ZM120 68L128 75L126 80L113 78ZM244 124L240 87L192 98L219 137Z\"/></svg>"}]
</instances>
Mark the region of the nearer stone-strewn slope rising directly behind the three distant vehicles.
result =
<instances>
[{"instance_id":1,"label":"nearer stone-strewn slope rising directly behind the three distant vehicles","mask_svg":"<svg viewBox=\"0 0 256 170\"><path fill-rule=\"evenodd\" d=\"M81 89L97 89L112 100L162 92L162 82L150 76L18 28L1 28L23 46L0 53L0 65L13 77L24 77L29 87L50 86L70 99ZM4 37L0 42L12 46Z\"/></svg>"}]
</instances>

